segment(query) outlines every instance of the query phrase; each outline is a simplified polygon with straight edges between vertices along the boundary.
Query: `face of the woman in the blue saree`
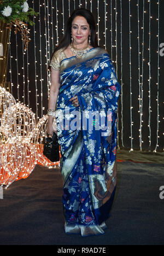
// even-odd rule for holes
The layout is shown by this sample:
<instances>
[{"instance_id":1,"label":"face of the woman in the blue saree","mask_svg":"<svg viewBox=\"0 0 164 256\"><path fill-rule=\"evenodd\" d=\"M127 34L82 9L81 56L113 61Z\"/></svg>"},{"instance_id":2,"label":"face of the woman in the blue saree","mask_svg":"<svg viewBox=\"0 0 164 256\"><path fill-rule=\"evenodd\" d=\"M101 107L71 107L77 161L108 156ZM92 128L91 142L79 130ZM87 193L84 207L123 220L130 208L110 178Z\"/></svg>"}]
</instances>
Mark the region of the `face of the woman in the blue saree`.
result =
<instances>
[{"instance_id":1,"label":"face of the woman in the blue saree","mask_svg":"<svg viewBox=\"0 0 164 256\"><path fill-rule=\"evenodd\" d=\"M74 45L79 44L81 47L87 45L88 37L90 35L90 25L83 16L76 16L73 19L71 34Z\"/></svg>"}]
</instances>

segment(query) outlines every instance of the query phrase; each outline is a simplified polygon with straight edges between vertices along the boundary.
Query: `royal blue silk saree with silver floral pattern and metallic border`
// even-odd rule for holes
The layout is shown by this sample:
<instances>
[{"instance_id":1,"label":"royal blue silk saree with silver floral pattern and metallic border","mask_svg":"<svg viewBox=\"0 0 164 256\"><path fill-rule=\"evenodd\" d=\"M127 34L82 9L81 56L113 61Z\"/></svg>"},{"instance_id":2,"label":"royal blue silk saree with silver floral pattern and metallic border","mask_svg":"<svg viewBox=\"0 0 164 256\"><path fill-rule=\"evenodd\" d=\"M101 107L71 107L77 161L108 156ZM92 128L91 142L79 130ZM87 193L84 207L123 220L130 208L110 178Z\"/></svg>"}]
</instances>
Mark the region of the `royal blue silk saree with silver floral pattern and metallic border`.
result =
<instances>
[{"instance_id":1,"label":"royal blue silk saree with silver floral pattern and metallic border","mask_svg":"<svg viewBox=\"0 0 164 256\"><path fill-rule=\"evenodd\" d=\"M65 232L104 233L116 188L120 84L108 52L92 48L60 64L56 124L61 147ZM70 98L78 96L79 106Z\"/></svg>"}]
</instances>

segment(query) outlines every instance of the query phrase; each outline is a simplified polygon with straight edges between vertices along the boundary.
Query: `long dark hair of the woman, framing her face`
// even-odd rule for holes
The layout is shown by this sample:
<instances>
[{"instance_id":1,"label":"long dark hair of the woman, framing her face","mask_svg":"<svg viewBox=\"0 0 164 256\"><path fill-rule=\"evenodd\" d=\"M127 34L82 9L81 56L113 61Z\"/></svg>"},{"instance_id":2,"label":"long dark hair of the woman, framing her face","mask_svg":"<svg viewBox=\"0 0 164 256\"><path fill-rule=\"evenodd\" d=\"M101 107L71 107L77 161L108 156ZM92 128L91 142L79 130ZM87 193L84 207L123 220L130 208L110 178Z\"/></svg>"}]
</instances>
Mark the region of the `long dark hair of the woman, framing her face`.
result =
<instances>
[{"instance_id":1,"label":"long dark hair of the woman, framing her face","mask_svg":"<svg viewBox=\"0 0 164 256\"><path fill-rule=\"evenodd\" d=\"M69 46L69 44L71 43L72 21L74 20L74 18L76 16L83 16L86 19L87 23L90 25L90 31L91 31L91 36L90 36L91 43L90 44L92 47L98 47L98 40L97 40L97 34L96 34L96 23L95 23L93 14L88 9L80 8L80 9L74 10L73 13L71 14L71 16L69 16L67 24L66 24L65 35L63 36L63 38L62 38L61 42L58 44L58 46L55 48L54 52L56 52L57 50L59 50L61 48L66 49Z\"/></svg>"}]
</instances>

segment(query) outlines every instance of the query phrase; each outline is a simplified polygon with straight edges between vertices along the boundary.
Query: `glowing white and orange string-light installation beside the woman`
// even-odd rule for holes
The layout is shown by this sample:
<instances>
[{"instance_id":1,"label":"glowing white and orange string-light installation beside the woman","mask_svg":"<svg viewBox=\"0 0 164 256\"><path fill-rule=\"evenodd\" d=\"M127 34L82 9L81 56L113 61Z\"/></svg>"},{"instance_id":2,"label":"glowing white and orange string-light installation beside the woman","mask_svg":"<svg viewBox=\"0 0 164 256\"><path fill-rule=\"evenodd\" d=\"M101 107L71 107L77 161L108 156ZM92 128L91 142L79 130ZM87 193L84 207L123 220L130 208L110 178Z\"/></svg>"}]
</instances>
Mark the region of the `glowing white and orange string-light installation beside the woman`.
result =
<instances>
[{"instance_id":1,"label":"glowing white and orange string-light installation beside the woman","mask_svg":"<svg viewBox=\"0 0 164 256\"><path fill-rule=\"evenodd\" d=\"M28 177L36 164L55 168L43 155L48 116L36 124L35 114L0 87L0 183L7 188L15 180Z\"/></svg>"}]
</instances>

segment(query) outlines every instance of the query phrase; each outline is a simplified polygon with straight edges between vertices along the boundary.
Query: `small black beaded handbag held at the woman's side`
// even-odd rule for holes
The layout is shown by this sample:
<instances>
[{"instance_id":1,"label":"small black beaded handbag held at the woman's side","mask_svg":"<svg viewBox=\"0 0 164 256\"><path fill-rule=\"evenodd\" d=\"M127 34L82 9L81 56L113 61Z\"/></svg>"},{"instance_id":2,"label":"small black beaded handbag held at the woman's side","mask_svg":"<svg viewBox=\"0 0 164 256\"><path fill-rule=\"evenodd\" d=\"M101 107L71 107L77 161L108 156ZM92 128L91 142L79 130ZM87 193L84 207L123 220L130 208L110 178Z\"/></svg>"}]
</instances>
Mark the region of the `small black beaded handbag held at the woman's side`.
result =
<instances>
[{"instance_id":1,"label":"small black beaded handbag held at the woman's side","mask_svg":"<svg viewBox=\"0 0 164 256\"><path fill-rule=\"evenodd\" d=\"M59 154L59 144L57 140L57 135L54 132L52 137L46 137L44 140L43 154L51 162L58 162L60 160Z\"/></svg>"}]
</instances>

